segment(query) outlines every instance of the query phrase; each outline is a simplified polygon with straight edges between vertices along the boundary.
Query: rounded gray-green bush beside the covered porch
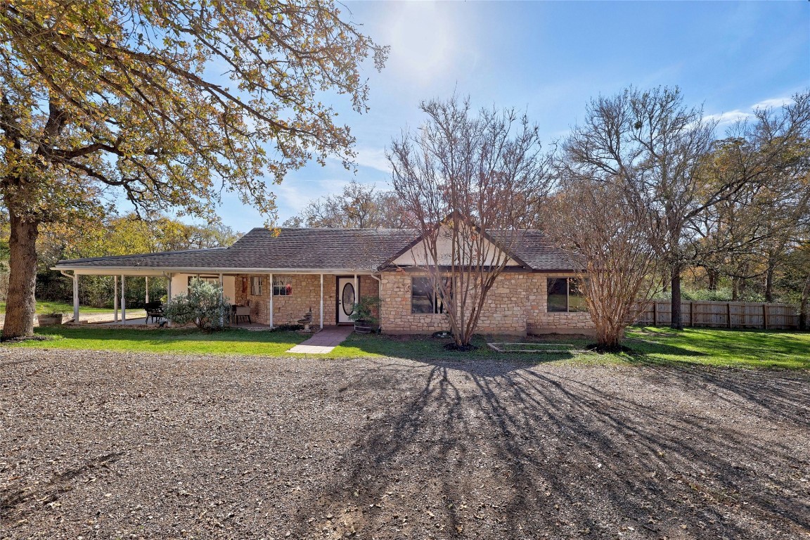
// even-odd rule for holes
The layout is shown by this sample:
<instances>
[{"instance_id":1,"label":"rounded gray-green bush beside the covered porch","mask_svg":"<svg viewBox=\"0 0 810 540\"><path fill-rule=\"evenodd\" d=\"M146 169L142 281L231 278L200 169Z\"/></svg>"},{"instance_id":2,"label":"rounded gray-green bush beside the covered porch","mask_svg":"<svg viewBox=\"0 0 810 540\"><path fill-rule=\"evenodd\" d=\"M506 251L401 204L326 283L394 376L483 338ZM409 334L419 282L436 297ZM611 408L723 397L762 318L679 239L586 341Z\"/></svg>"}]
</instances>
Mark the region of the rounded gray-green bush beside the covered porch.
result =
<instances>
[{"instance_id":1,"label":"rounded gray-green bush beside the covered porch","mask_svg":"<svg viewBox=\"0 0 810 540\"><path fill-rule=\"evenodd\" d=\"M203 332L222 330L228 322L231 305L222 296L222 287L193 279L186 294L175 296L168 301L164 315L177 325L194 323Z\"/></svg>"}]
</instances>

